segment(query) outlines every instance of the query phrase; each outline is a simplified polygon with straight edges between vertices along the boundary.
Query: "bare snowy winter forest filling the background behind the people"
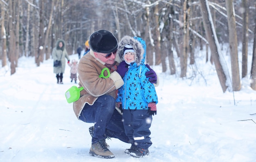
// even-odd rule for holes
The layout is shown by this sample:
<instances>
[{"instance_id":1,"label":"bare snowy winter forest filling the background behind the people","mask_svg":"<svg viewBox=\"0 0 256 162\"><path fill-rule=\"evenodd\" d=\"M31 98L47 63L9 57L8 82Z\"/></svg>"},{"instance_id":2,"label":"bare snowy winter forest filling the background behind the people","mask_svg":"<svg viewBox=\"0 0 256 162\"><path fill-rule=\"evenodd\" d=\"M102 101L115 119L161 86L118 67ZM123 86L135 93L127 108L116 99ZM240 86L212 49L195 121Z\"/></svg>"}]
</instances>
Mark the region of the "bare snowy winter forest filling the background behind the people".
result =
<instances>
[{"instance_id":1,"label":"bare snowy winter forest filling the background behind the people","mask_svg":"<svg viewBox=\"0 0 256 162\"><path fill-rule=\"evenodd\" d=\"M239 91L247 75L256 90L255 0L0 0L0 6L0 62L11 74L20 57L34 57L36 66L51 59L57 39L65 40L72 55L84 48L91 33L106 29L118 41L124 35L143 38L146 62L182 78L196 61L195 49L206 48L205 61L214 64L223 92ZM248 66L249 43L253 56ZM223 44L229 44L231 82L220 53Z\"/></svg>"}]
</instances>

